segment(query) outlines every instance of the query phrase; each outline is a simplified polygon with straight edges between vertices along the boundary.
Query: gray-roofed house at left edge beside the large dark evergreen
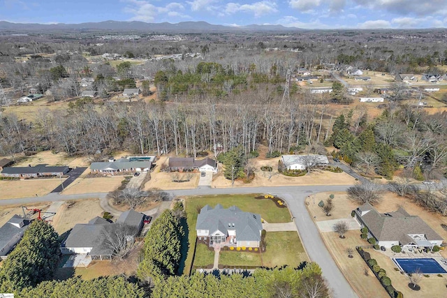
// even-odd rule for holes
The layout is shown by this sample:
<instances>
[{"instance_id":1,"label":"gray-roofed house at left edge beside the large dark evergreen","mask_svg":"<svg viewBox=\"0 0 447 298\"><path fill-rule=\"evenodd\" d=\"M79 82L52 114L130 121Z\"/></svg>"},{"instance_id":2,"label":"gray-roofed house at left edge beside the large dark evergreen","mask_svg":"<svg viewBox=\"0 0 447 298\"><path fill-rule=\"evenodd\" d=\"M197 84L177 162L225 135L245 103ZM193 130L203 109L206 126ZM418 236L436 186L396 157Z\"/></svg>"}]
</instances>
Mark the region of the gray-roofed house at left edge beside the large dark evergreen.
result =
<instances>
[{"instance_id":1,"label":"gray-roofed house at left edge beside the large dark evergreen","mask_svg":"<svg viewBox=\"0 0 447 298\"><path fill-rule=\"evenodd\" d=\"M6 259L6 255L15 247L24 232L29 227L30 221L27 218L14 215L0 228L0 258Z\"/></svg>"}]
</instances>

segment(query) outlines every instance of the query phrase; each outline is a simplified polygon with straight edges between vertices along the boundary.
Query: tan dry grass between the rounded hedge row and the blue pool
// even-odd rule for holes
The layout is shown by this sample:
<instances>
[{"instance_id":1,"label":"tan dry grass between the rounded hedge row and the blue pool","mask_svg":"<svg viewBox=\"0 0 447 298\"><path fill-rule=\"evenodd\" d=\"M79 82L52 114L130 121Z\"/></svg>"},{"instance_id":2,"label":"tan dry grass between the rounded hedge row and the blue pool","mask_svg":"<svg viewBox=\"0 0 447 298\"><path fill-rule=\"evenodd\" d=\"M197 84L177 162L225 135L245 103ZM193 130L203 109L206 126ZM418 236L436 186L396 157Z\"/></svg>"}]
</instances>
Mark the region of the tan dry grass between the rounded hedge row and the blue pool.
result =
<instances>
[{"instance_id":1,"label":"tan dry grass between the rounded hedge row and the blue pool","mask_svg":"<svg viewBox=\"0 0 447 298\"><path fill-rule=\"evenodd\" d=\"M391 278L393 287L402 292L404 297L445 296L441 295L440 293L446 293L447 274L443 274L442 277L437 276L437 274L430 274L430 277L423 276L419 283L420 290L416 292L408 287L408 278L406 278L404 274L400 274L400 271L395 270L396 266L393 260L388 258L386 255L383 255L383 253L380 253L379 251L374 251L374 249L367 249L365 251L371 254L371 258L376 259L377 265L386 270L386 274L389 278ZM360 255L358 255L358 258L360 258Z\"/></svg>"}]
</instances>

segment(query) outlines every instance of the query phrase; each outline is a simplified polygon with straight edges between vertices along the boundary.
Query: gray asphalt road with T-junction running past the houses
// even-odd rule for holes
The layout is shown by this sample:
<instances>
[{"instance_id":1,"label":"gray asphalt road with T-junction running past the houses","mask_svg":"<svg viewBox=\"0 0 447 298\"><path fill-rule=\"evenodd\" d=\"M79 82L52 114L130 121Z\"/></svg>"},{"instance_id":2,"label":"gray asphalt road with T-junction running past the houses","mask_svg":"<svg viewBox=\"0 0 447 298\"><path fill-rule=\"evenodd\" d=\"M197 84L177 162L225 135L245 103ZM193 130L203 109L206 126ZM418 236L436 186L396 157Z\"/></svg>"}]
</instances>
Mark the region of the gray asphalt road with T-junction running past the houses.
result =
<instances>
[{"instance_id":1,"label":"gray asphalt road with T-junction running past the houses","mask_svg":"<svg viewBox=\"0 0 447 298\"><path fill-rule=\"evenodd\" d=\"M310 260L320 265L323 276L333 291L333 297L350 298L358 297L344 278L325 244L320 237L318 229L305 207L305 198L313 193L323 191L346 191L348 186L276 186L276 187L235 187L235 188L210 188L199 187L195 189L166 191L172 197L176 195L231 195L240 193L272 193L286 200L295 225L300 232L302 244L305 246ZM24 204L30 202L57 202L61 200L77 200L87 198L105 198L107 193L86 193L82 195L58 195L50 193L42 197L0 200L0 205Z\"/></svg>"}]
</instances>

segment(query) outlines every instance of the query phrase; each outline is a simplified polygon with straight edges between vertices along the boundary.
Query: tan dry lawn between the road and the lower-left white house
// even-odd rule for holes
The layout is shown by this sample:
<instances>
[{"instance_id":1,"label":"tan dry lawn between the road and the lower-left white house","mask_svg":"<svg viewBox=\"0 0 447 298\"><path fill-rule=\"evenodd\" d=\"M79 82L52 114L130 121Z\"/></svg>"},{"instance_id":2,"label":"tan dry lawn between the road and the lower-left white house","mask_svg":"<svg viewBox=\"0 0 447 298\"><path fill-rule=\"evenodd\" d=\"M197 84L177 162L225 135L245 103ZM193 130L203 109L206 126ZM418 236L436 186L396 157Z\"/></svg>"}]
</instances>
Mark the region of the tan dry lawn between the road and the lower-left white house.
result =
<instances>
[{"instance_id":1,"label":"tan dry lawn between the road and the lower-left white house","mask_svg":"<svg viewBox=\"0 0 447 298\"><path fill-rule=\"evenodd\" d=\"M53 218L52 225L59 234L70 230L76 223L88 223L91 218L101 216L103 212L98 199L73 202L71 207L67 203L63 204Z\"/></svg>"}]
</instances>

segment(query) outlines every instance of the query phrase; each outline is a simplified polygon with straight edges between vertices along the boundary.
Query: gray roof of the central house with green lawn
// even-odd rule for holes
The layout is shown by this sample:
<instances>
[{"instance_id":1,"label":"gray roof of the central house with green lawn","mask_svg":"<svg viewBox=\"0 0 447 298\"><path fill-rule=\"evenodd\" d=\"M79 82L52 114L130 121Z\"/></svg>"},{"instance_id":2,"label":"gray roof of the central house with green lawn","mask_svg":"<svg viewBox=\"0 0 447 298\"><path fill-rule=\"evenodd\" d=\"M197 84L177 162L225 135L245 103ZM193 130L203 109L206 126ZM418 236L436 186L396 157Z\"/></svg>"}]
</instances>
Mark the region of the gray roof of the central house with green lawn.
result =
<instances>
[{"instance_id":1,"label":"gray roof of the central house with green lawn","mask_svg":"<svg viewBox=\"0 0 447 298\"><path fill-rule=\"evenodd\" d=\"M196 230L209 230L210 234L217 230L223 234L236 230L237 241L261 241L263 225L260 214L241 211L236 206L223 209L221 204L217 204L214 209L206 205L200 210Z\"/></svg>"}]
</instances>

